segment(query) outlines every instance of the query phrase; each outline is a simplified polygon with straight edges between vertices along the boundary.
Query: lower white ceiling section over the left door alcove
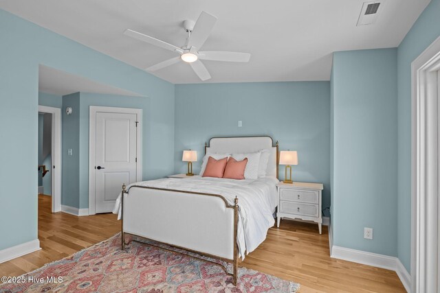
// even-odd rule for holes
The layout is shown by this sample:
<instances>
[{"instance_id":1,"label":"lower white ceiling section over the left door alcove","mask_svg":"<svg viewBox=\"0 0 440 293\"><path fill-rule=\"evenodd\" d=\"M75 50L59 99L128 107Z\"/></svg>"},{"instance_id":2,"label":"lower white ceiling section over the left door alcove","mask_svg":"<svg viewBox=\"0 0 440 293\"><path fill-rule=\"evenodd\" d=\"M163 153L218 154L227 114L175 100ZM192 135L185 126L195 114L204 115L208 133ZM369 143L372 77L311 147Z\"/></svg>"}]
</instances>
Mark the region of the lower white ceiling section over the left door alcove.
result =
<instances>
[{"instance_id":1,"label":"lower white ceiling section over the left door alcove","mask_svg":"<svg viewBox=\"0 0 440 293\"><path fill-rule=\"evenodd\" d=\"M140 96L137 93L118 89L114 86L101 84L73 75L52 67L39 66L39 91L52 93L52 95L69 95L70 93L104 93L108 95L132 95Z\"/></svg>"}]
</instances>

